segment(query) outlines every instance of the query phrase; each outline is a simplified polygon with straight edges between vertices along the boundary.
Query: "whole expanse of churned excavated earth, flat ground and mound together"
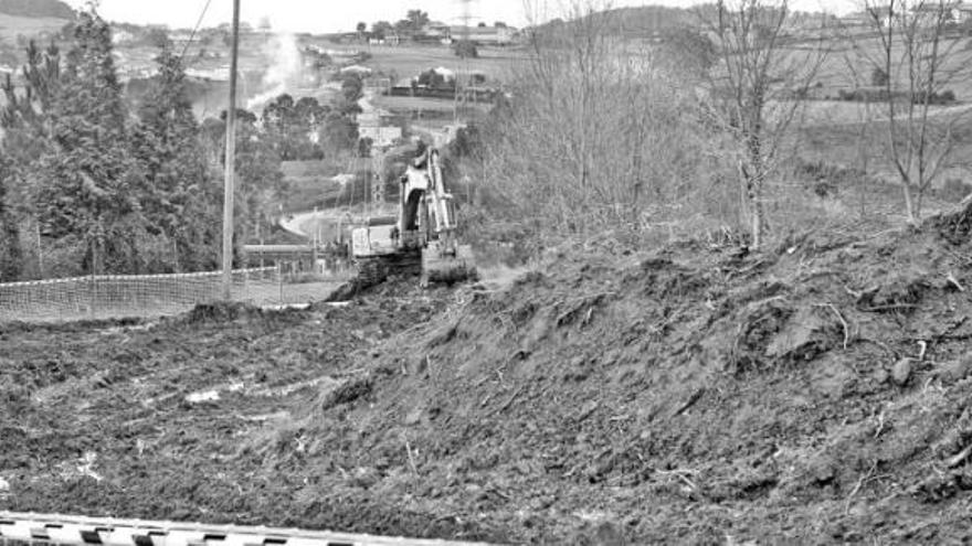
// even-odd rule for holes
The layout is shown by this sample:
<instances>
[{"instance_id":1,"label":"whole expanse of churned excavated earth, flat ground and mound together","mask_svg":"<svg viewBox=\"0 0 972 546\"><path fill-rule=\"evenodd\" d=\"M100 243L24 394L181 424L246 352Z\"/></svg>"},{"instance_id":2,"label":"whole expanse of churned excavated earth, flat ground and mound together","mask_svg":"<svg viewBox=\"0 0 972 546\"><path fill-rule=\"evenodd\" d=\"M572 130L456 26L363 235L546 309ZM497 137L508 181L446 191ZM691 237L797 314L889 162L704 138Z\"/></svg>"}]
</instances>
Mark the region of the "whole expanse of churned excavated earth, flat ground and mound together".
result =
<instances>
[{"instance_id":1,"label":"whole expanse of churned excavated earth, flat ground and mound together","mask_svg":"<svg viewBox=\"0 0 972 546\"><path fill-rule=\"evenodd\" d=\"M972 536L969 214L0 333L0 510L571 544Z\"/></svg>"}]
</instances>

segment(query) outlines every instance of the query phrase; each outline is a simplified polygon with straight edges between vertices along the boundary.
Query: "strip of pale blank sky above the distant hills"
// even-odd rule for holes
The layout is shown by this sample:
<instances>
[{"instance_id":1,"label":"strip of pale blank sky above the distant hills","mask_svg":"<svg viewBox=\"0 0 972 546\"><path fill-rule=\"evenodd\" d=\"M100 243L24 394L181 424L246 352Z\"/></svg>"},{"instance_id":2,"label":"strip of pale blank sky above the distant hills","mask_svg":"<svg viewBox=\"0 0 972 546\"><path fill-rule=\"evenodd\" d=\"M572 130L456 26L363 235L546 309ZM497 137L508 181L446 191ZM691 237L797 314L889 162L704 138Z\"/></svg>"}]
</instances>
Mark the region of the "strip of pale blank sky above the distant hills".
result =
<instances>
[{"instance_id":1,"label":"strip of pale blank sky above the distant hills","mask_svg":"<svg viewBox=\"0 0 972 546\"><path fill-rule=\"evenodd\" d=\"M203 26L229 22L233 0L209 0L210 7ZM608 3L604 0L594 0ZM276 30L292 32L353 31L359 21L368 23L403 19L410 9L429 12L435 21L461 24L463 0L241 0L241 18L253 25L267 18ZM493 24L503 21L521 28L530 22L563 17L563 7L572 0L468 0L474 23ZM843 13L853 8L853 0L792 0L795 9L804 11L834 11ZM67 0L80 7L86 0ZM202 13L207 0L101 0L98 11L109 21L139 24L167 24L170 28L192 28ZM613 7L662 4L687 7L694 0L615 0ZM848 8L849 7L849 8Z\"/></svg>"}]
</instances>

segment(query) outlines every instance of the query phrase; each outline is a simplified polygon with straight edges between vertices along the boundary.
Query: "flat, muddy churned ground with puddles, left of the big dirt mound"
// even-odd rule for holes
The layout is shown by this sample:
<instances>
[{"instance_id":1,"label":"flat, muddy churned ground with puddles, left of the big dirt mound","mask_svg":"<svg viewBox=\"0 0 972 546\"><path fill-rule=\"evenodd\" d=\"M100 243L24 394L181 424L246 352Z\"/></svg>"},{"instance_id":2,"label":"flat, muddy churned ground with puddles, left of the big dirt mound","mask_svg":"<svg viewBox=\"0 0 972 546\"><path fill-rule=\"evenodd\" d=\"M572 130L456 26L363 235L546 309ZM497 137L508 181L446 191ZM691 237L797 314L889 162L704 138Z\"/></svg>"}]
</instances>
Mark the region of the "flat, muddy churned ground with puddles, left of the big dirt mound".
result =
<instances>
[{"instance_id":1,"label":"flat, muddy churned ground with puddles, left of the big dirt mound","mask_svg":"<svg viewBox=\"0 0 972 546\"><path fill-rule=\"evenodd\" d=\"M314 469L263 462L329 449L297 416L450 296L0 326L0 510L496 538L367 492L317 497Z\"/></svg>"}]
</instances>

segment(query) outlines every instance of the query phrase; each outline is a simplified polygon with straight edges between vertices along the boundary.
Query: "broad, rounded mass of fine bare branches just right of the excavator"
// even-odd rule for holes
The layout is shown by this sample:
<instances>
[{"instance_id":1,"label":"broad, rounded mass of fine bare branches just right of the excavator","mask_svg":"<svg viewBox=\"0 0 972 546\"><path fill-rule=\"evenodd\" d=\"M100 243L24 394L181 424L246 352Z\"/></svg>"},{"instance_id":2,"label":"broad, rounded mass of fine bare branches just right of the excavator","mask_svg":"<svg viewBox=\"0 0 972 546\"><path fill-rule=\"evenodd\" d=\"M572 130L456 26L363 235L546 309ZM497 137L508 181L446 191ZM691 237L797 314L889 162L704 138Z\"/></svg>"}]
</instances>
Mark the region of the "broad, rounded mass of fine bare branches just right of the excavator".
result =
<instances>
[{"instance_id":1,"label":"broad, rounded mass of fine bare branches just right of the excavator","mask_svg":"<svg viewBox=\"0 0 972 546\"><path fill-rule=\"evenodd\" d=\"M705 206L727 200L706 186L709 136L693 83L657 49L626 42L623 19L604 4L579 1L563 14L530 33L514 98L484 130L472 176L490 181L484 206L558 236L667 235L711 221Z\"/></svg>"}]
</instances>

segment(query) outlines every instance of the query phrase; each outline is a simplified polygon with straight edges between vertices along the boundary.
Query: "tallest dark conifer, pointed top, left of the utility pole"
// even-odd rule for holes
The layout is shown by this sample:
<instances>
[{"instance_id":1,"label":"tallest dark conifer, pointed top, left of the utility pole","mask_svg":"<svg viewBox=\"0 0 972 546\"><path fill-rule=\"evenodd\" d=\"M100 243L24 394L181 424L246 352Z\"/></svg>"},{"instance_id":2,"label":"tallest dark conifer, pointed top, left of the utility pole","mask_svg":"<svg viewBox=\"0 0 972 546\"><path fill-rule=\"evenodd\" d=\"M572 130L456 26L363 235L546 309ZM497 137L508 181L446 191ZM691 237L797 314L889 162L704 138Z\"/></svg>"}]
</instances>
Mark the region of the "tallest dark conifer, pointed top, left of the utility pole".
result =
<instances>
[{"instance_id":1,"label":"tallest dark conifer, pointed top, left of the utility pole","mask_svg":"<svg viewBox=\"0 0 972 546\"><path fill-rule=\"evenodd\" d=\"M140 272L145 190L128 149L127 107L108 24L82 12L52 107L51 149L39 161L44 235L80 246L83 272Z\"/></svg>"}]
</instances>

